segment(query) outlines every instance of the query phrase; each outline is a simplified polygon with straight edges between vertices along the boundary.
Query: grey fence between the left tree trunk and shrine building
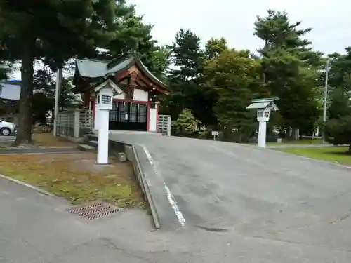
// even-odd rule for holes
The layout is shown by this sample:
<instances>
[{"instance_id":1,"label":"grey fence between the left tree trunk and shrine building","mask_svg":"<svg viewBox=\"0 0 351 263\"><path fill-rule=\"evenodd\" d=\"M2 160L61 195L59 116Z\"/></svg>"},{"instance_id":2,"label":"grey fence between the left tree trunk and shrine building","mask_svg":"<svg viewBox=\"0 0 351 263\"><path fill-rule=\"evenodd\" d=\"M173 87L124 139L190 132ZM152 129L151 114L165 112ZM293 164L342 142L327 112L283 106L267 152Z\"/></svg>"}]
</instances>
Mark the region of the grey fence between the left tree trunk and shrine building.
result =
<instances>
[{"instance_id":1,"label":"grey fence between the left tree trunk and shrine building","mask_svg":"<svg viewBox=\"0 0 351 263\"><path fill-rule=\"evenodd\" d=\"M78 138L93 129L93 112L87 109L72 109L58 113L55 119L57 135Z\"/></svg>"}]
</instances>

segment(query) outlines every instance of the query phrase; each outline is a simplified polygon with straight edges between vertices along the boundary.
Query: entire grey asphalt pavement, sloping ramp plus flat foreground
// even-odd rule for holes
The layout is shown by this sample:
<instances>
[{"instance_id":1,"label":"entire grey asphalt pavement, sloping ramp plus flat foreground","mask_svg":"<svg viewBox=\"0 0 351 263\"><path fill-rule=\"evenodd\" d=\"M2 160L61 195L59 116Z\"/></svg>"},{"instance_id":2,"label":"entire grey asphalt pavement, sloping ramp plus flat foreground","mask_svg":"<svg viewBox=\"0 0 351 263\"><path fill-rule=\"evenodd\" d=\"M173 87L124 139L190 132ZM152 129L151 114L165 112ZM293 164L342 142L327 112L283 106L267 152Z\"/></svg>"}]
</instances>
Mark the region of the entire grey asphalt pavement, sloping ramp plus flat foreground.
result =
<instances>
[{"instance_id":1,"label":"entire grey asphalt pavement, sloping ramp plus flat foreground","mask_svg":"<svg viewBox=\"0 0 351 263\"><path fill-rule=\"evenodd\" d=\"M239 144L111 137L147 146L185 227L152 232L140 210L85 222L0 178L1 263L351 261L351 170Z\"/></svg>"}]
</instances>

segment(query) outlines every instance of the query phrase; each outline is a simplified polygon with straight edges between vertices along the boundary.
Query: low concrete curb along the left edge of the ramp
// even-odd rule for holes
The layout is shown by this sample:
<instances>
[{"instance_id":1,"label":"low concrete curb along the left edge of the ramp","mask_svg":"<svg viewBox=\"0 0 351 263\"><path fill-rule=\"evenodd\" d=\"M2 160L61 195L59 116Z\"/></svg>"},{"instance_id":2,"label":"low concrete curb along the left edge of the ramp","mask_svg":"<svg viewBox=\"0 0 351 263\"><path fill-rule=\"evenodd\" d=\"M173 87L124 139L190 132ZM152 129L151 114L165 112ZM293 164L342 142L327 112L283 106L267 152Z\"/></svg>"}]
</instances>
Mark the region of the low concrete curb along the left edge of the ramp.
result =
<instances>
[{"instance_id":1,"label":"low concrete curb along the left edge of the ramp","mask_svg":"<svg viewBox=\"0 0 351 263\"><path fill-rule=\"evenodd\" d=\"M95 140L97 139L96 135L88 135L89 139L92 137ZM160 229L161 224L159 223L159 215L157 213L157 208L154 203L154 198L152 197L152 193L150 191L150 185L145 176L143 166L140 163L140 156L138 156L138 151L135 149L135 146L133 146L133 144L128 144L126 142L109 140L109 144L110 144L109 146L110 151L112 154L116 154L116 151L117 152L123 151L126 154L126 158L128 159L128 161L131 161L131 163L133 164L134 173L138 178L138 182L143 191L143 196L145 198L145 201L147 202L147 205L149 205L154 227L155 229Z\"/></svg>"}]
</instances>

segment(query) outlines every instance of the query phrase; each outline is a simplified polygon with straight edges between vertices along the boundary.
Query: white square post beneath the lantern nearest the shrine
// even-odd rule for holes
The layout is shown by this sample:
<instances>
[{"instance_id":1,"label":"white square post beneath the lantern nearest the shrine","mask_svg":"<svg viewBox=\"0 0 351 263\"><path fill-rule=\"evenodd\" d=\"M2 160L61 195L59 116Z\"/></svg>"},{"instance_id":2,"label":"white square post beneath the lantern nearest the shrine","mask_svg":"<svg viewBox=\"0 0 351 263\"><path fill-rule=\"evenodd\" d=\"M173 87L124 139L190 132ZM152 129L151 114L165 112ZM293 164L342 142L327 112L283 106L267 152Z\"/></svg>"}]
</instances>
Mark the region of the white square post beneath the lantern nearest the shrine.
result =
<instances>
[{"instance_id":1,"label":"white square post beneath the lantern nearest the shrine","mask_svg":"<svg viewBox=\"0 0 351 263\"><path fill-rule=\"evenodd\" d=\"M107 109L99 109L98 122L98 157L96 163L108 164L109 163L109 111ZM95 114L97 113L95 112Z\"/></svg>"}]
</instances>

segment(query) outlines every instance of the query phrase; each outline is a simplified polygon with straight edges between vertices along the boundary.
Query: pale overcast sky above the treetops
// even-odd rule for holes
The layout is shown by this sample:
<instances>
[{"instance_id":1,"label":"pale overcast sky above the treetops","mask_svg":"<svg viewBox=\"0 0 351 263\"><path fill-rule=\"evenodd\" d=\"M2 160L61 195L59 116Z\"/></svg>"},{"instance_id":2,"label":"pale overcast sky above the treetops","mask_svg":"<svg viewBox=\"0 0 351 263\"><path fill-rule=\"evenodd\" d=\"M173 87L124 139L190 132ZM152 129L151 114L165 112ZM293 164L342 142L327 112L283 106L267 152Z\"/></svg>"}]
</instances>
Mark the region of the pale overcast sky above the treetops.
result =
<instances>
[{"instance_id":1,"label":"pale overcast sky above the treetops","mask_svg":"<svg viewBox=\"0 0 351 263\"><path fill-rule=\"evenodd\" d=\"M286 11L293 22L312 27L307 38L313 48L324 53L343 53L351 46L350 0L129 0L145 22L154 25L154 38L170 44L183 27L200 36L202 44L223 36L231 48L256 50L263 43L253 36L256 15L267 9Z\"/></svg>"}]
</instances>

